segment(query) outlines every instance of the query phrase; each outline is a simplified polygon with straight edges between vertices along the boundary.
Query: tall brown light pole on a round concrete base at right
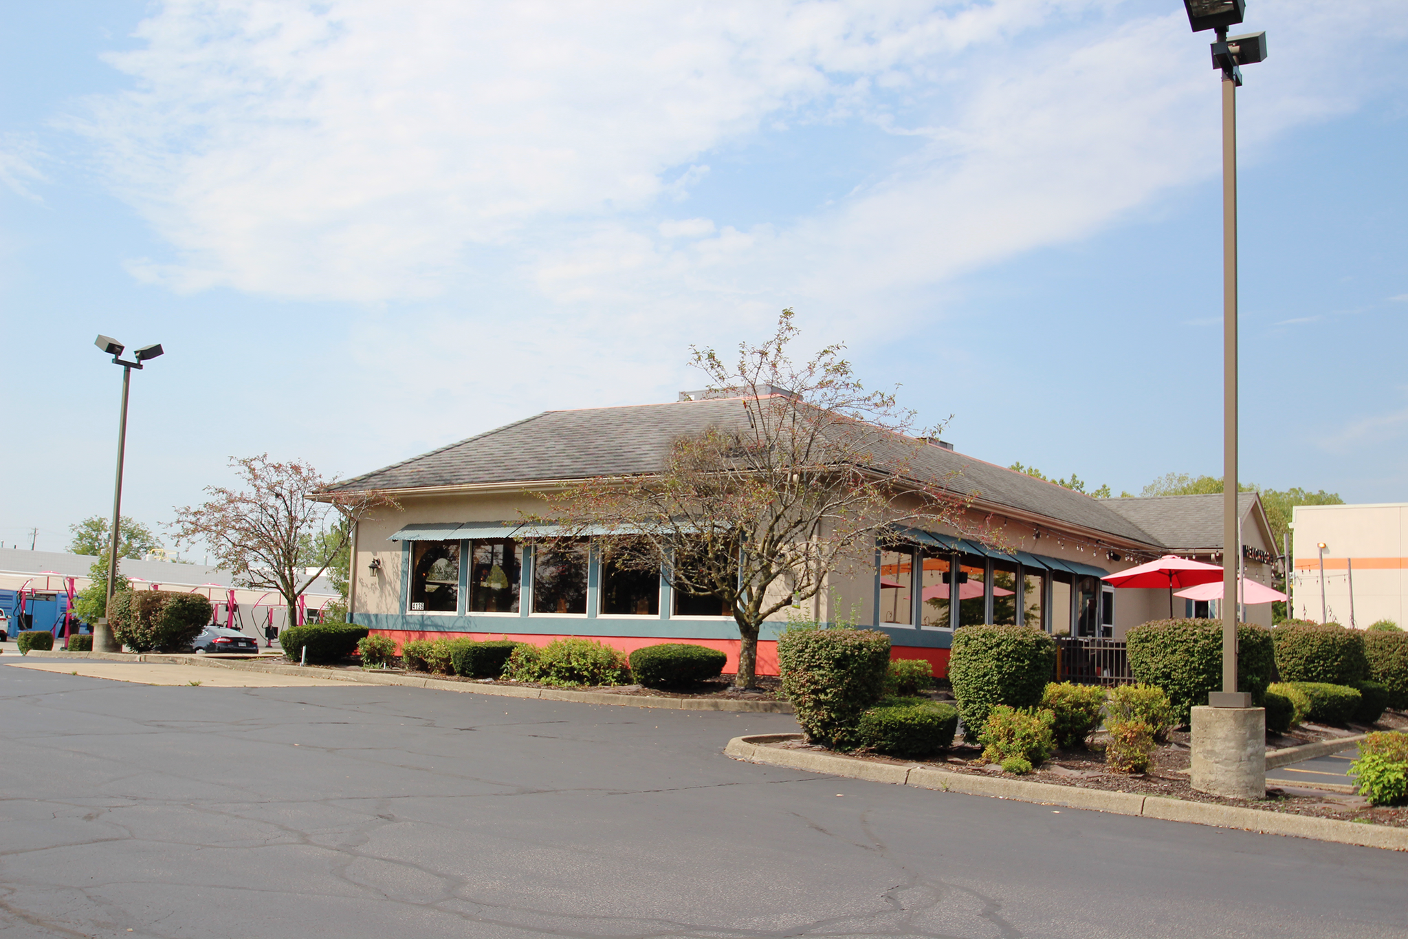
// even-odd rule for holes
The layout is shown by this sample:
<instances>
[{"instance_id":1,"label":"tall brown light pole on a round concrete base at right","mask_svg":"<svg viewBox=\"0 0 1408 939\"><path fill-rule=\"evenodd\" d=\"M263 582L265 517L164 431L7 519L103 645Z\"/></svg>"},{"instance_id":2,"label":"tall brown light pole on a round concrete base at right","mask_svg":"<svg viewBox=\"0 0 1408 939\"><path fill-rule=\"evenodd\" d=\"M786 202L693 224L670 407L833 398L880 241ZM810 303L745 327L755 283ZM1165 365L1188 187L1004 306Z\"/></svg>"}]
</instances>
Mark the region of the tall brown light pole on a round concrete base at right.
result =
<instances>
[{"instance_id":1,"label":"tall brown light pole on a round concrete base at right","mask_svg":"<svg viewBox=\"0 0 1408 939\"><path fill-rule=\"evenodd\" d=\"M1236 382L1236 89L1239 66L1266 58L1266 34L1229 37L1242 23L1246 0L1183 0L1194 32L1215 30L1212 68L1222 72L1222 691L1208 694L1193 714L1191 783L1197 790L1236 798L1266 794L1266 712L1238 691L1238 565L1242 560L1238 514Z\"/></svg>"}]
</instances>

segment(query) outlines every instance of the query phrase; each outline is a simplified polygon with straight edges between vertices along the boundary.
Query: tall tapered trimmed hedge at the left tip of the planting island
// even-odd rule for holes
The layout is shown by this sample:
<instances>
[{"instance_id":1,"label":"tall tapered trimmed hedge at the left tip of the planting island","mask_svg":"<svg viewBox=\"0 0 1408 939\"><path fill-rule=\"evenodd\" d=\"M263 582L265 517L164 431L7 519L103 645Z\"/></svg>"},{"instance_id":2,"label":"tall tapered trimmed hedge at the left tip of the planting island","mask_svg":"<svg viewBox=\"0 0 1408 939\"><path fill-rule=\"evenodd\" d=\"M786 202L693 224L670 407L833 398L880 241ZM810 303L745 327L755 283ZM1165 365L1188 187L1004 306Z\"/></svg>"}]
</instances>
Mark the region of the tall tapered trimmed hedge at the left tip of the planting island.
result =
<instances>
[{"instance_id":1,"label":"tall tapered trimmed hedge at the left tip of the planting island","mask_svg":"<svg viewBox=\"0 0 1408 939\"><path fill-rule=\"evenodd\" d=\"M890 636L877 629L788 629L777 639L783 694L814 743L859 745L860 715L884 691Z\"/></svg>"}]
</instances>

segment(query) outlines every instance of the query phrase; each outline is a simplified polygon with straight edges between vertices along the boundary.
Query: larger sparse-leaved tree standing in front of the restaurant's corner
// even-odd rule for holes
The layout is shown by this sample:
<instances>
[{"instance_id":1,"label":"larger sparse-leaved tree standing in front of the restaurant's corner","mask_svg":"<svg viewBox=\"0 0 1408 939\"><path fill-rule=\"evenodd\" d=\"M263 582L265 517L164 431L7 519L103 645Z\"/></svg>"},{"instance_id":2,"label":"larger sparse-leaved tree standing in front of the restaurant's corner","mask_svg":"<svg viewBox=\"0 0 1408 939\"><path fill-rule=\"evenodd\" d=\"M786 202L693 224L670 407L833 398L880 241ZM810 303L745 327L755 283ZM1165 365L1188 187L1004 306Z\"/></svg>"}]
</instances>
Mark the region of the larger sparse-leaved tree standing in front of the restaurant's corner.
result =
<instances>
[{"instance_id":1,"label":"larger sparse-leaved tree standing in front of the restaurant's corner","mask_svg":"<svg viewBox=\"0 0 1408 939\"><path fill-rule=\"evenodd\" d=\"M662 472L597 477L549 494L536 521L555 542L608 532L608 563L663 570L676 591L715 597L742 639L738 687L756 684L763 622L811 600L826 576L873 556L891 522L963 527L966 498L952 480L912 463L928 446L915 415L890 391L862 386L842 345L794 365L793 311L736 362L694 348L711 397L738 397L736 417L676 439ZM936 434L936 429L932 431Z\"/></svg>"}]
</instances>

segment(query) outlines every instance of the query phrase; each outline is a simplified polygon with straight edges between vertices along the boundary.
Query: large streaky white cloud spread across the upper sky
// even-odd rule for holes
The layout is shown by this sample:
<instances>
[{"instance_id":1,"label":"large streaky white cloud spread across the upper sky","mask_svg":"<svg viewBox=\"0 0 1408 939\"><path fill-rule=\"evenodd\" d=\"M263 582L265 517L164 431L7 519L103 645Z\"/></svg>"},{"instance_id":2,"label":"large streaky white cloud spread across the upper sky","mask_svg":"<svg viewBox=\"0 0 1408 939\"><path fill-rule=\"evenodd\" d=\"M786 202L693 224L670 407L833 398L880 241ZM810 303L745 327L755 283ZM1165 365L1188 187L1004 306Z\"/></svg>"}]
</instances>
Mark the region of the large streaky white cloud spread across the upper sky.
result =
<instances>
[{"instance_id":1,"label":"large streaky white cloud spread across the upper sky","mask_svg":"<svg viewBox=\"0 0 1408 939\"><path fill-rule=\"evenodd\" d=\"M1325 41L1393 62L1400 6L1257 7L1243 159L1401 82ZM128 270L366 303L346 348L404 376L387 415L432 442L463 422L407 396L641 400L689 341L762 335L794 304L814 332L908 315L1219 169L1209 37L1132 0L170 0L139 35L111 59L131 90L73 122L173 248ZM749 176L748 155L818 127L903 146L777 208L791 173Z\"/></svg>"}]
</instances>

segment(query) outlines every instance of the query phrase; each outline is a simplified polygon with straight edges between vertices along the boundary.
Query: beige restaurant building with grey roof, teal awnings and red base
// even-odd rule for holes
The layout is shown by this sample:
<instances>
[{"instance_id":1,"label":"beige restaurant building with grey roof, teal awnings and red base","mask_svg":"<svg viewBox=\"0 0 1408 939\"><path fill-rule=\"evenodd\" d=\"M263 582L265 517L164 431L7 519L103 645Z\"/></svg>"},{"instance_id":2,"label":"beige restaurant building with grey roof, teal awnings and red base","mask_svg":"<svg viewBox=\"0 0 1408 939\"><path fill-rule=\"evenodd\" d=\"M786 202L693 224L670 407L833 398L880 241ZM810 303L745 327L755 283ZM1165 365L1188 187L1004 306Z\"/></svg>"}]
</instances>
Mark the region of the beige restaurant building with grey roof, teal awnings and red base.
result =
<instances>
[{"instance_id":1,"label":"beige restaurant building with grey roof, teal awnings and red base","mask_svg":"<svg viewBox=\"0 0 1408 939\"><path fill-rule=\"evenodd\" d=\"M535 556L535 536L549 532L524 519L545 511L542 493L659 472L680 436L742 418L739 397L545 411L339 483L341 491L377 490L398 501L356 525L349 618L397 643L590 636L631 652L693 642L722 649L735 667L738 629L717 598L679 594L655 572L615 570L591 539L574 552ZM1167 617L1169 600L1156 590L1115 591L1104 574L1180 548L1212 548L1148 531L1160 517L1150 507L1157 500L1095 500L939 442L925 443L910 472L966 500L972 525L964 528L998 532L1011 550L959 531L894 527L884 543L831 572L826 590L793 618L881 629L897 657L928 659L938 673L953 632L974 624L1119 639L1139 622ZM1118 503L1131 510L1138 503L1140 511L1119 511ZM1255 496L1249 511L1260 511ZM1177 527L1169 532L1174 538ZM776 674L783 626L784 617L765 626L760 674Z\"/></svg>"}]
</instances>

